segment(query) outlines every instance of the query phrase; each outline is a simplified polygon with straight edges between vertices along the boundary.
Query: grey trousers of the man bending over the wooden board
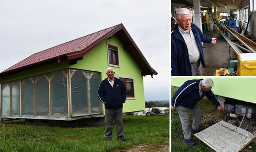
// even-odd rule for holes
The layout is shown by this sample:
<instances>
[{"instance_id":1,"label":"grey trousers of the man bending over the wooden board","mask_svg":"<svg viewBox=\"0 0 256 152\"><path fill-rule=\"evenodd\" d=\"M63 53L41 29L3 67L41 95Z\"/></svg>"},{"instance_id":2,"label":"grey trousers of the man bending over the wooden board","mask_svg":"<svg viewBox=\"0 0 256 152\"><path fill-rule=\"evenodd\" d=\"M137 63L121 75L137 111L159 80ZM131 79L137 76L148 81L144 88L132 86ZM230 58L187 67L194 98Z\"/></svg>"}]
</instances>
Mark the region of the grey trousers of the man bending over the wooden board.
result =
<instances>
[{"instance_id":1,"label":"grey trousers of the man bending over the wooden board","mask_svg":"<svg viewBox=\"0 0 256 152\"><path fill-rule=\"evenodd\" d=\"M190 131L190 114L191 112L193 116L193 123L192 128L194 130L199 129L200 123L201 123L201 111L196 104L193 108L187 108L184 106L178 106L178 113L180 116L181 124L182 124L182 132L184 134L185 139L191 139L191 131Z\"/></svg>"}]
</instances>

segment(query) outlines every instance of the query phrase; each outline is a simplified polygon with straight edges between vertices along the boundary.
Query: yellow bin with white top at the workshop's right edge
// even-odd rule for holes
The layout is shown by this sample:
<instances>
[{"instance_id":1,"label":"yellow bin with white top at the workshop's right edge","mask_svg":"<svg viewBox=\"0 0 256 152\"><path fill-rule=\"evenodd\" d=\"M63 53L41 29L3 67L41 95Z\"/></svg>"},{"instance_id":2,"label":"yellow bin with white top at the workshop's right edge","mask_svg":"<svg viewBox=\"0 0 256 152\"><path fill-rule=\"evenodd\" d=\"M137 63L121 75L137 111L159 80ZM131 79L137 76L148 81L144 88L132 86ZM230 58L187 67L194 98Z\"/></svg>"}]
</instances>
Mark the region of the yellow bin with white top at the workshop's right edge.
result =
<instances>
[{"instance_id":1,"label":"yellow bin with white top at the workshop's right edge","mask_svg":"<svg viewBox=\"0 0 256 152\"><path fill-rule=\"evenodd\" d=\"M238 54L237 75L256 76L256 53Z\"/></svg>"}]
</instances>

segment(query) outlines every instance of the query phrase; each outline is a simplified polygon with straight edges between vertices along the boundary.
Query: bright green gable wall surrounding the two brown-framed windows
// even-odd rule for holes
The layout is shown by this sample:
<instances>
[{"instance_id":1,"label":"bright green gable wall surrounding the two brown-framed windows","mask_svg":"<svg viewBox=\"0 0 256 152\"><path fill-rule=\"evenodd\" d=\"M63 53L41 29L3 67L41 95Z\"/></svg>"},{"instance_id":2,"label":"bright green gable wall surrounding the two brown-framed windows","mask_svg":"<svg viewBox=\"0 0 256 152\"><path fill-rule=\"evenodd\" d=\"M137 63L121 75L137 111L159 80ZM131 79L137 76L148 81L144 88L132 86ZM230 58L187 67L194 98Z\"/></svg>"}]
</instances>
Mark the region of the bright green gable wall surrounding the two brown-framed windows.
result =
<instances>
[{"instance_id":1,"label":"bright green gable wall surrounding the two brown-framed windows","mask_svg":"<svg viewBox=\"0 0 256 152\"><path fill-rule=\"evenodd\" d=\"M116 35L112 36L96 47L93 51L83 56L83 60L78 60L77 64L69 65L70 68L86 69L91 71L99 71L102 73L102 80L107 78L106 68L108 67L107 43L119 47L119 63L120 67L114 67L115 77L130 77L134 80L135 99L127 100L124 104L123 112L141 111L145 109L145 98L143 88L143 77L141 69L128 51L123 49L122 42Z\"/></svg>"}]
</instances>

